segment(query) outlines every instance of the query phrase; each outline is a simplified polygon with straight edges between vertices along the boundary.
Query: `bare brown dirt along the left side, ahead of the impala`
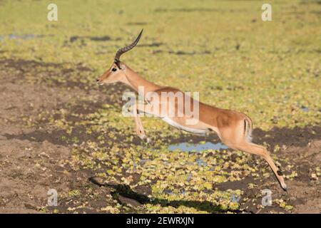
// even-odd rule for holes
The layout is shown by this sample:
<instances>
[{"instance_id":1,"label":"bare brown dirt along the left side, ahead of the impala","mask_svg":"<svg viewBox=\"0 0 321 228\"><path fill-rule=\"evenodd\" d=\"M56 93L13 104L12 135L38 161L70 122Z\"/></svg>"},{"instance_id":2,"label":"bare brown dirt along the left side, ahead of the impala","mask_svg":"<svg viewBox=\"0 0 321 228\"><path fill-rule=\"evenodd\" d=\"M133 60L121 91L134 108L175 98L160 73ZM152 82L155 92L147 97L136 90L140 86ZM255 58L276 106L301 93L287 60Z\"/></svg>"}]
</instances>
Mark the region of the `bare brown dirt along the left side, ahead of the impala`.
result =
<instances>
[{"instance_id":1,"label":"bare brown dirt along the left side, ahead of the impala","mask_svg":"<svg viewBox=\"0 0 321 228\"><path fill-rule=\"evenodd\" d=\"M82 65L76 68L85 70ZM1 60L0 65L0 212L1 213L38 213L51 210L47 207L48 190L54 189L58 197L66 199L66 203L60 204L58 210L68 212L69 207L77 202L77 196L69 194L75 187L88 185L88 177L93 173L86 170L73 170L68 165L71 160L71 145L74 142L69 139L76 137L79 141L96 140L96 135L86 134L85 129L79 126L70 134L64 130L56 130L48 127L49 113L61 113L71 123L78 121L78 116L96 112L109 99L120 100L115 97L111 88L98 88L91 90L83 100L79 94L81 83L73 88L48 86L41 83L19 83L15 78L25 78L34 68L36 74L46 71L46 76L51 74L51 68L63 73L71 73L74 70L64 68L58 63L41 63L37 61ZM9 75L9 71L13 72ZM79 71L79 70L77 70ZM107 91L101 93L101 91ZM108 95L109 93L109 95ZM97 102L98 100L98 102ZM111 101L109 100L109 101ZM115 101L115 103L117 103ZM39 117L41 115L41 118ZM54 116L54 120L61 119L61 115ZM30 123L30 125L29 125ZM82 138L81 135L86 135ZM90 197L91 190L88 190ZM95 190L93 190L93 193ZM106 190L98 190L95 193L97 200L91 199L92 207L81 212L97 212L93 209L101 209L113 204L106 201ZM91 197L92 198L92 197ZM61 199L61 202L63 200ZM98 204L98 202L103 202ZM53 208L57 209L56 207ZM53 211L52 210L52 211Z\"/></svg>"}]
</instances>

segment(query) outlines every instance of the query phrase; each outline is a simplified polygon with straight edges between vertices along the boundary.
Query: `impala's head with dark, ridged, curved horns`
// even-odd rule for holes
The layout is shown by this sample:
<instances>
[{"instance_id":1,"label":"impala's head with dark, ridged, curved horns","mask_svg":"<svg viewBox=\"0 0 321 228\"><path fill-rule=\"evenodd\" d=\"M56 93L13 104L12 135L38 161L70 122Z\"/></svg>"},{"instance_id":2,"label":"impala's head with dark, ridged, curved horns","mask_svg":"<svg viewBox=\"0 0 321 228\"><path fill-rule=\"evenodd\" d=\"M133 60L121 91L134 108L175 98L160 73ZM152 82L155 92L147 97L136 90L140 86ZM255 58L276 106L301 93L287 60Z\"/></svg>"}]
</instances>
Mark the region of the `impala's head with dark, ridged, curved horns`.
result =
<instances>
[{"instance_id":1,"label":"impala's head with dark, ridged, curved horns","mask_svg":"<svg viewBox=\"0 0 321 228\"><path fill-rule=\"evenodd\" d=\"M121 63L121 60L120 60L121 55L123 53L126 53L127 51L130 51L136 46L139 39L141 38L142 33L143 33L143 29L141 30L141 33L138 34L136 40L133 41L133 43L119 49L116 52L116 56L111 67L108 68L108 70L97 79L97 83L99 85L116 83L118 81L122 81L123 78L126 77L126 74L125 74L126 65L124 63Z\"/></svg>"}]
</instances>

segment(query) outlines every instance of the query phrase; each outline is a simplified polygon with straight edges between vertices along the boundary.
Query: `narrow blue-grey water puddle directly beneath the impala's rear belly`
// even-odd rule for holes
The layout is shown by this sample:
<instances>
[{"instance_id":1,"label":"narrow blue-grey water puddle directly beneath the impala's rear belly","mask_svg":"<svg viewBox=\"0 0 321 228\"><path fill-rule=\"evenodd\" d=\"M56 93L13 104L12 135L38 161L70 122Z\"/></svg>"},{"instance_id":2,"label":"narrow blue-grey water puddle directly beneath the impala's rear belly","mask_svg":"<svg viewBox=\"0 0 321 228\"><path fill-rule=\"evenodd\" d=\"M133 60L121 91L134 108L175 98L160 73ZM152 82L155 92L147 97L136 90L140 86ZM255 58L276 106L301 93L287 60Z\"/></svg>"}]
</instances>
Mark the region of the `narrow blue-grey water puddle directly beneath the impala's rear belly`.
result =
<instances>
[{"instance_id":1,"label":"narrow blue-grey water puddle directly beneath the impala's rear belly","mask_svg":"<svg viewBox=\"0 0 321 228\"><path fill-rule=\"evenodd\" d=\"M220 142L213 143L213 142L205 142L205 143L188 143L188 142L180 142L178 144L170 145L168 147L168 150L181 150L183 152L200 152L203 150L225 150L228 149L228 147Z\"/></svg>"}]
</instances>

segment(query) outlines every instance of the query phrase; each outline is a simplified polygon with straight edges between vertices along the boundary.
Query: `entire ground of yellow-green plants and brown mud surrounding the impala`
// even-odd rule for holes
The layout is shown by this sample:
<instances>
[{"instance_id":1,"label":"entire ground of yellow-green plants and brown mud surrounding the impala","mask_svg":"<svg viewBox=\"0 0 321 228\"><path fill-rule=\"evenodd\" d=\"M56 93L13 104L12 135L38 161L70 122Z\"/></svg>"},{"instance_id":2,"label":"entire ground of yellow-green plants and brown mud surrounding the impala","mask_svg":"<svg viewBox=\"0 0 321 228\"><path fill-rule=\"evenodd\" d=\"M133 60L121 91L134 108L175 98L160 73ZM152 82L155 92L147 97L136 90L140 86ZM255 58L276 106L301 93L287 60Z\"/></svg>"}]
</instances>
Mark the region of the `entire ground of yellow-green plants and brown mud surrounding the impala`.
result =
<instances>
[{"instance_id":1,"label":"entire ground of yellow-green plants and brown mud surrounding the impala","mask_svg":"<svg viewBox=\"0 0 321 228\"><path fill-rule=\"evenodd\" d=\"M74 4L58 2L58 22L46 21L46 2L25 4L0 1L0 213L321 212L319 1L272 3L272 24L253 1L93 1L71 18L63 13ZM152 142L137 137L121 115L130 89L95 81L142 26L124 61L150 81L250 115L253 141L282 167L287 192L260 157L168 150L215 135L143 118ZM57 207L47 205L50 189ZM264 189L272 206L262 206Z\"/></svg>"}]
</instances>

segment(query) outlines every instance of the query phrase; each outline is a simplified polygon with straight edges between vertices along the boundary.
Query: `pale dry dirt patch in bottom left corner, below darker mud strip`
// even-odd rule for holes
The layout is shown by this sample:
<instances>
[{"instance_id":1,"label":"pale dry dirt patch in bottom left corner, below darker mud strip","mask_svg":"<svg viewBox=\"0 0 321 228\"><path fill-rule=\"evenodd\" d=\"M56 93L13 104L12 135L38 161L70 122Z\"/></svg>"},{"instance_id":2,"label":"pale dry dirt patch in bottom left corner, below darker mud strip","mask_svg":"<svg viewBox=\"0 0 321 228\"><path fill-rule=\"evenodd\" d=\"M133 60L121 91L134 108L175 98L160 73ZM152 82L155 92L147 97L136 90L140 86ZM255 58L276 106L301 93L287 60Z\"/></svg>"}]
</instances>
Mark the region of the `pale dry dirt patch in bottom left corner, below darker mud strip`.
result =
<instances>
[{"instance_id":1,"label":"pale dry dirt patch in bottom left corner, below darker mud strip","mask_svg":"<svg viewBox=\"0 0 321 228\"><path fill-rule=\"evenodd\" d=\"M1 213L41 212L49 189L68 190L63 168L56 164L69 156L68 148L50 142L1 140L0 154L4 156L0 165Z\"/></svg>"}]
</instances>

